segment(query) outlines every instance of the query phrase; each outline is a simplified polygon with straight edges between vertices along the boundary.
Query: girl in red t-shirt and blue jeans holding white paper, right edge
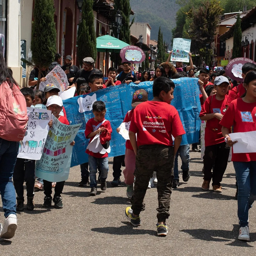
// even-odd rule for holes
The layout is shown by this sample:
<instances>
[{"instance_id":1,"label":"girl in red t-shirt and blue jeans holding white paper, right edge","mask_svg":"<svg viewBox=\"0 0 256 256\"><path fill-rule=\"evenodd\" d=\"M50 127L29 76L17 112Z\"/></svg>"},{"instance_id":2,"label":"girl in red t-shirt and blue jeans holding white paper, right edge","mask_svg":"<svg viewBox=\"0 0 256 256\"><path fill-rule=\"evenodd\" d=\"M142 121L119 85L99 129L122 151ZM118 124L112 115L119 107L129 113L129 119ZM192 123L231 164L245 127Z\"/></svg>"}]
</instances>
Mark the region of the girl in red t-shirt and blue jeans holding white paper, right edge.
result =
<instances>
[{"instance_id":1,"label":"girl in red t-shirt and blue jeans holding white paper, right edge","mask_svg":"<svg viewBox=\"0 0 256 256\"><path fill-rule=\"evenodd\" d=\"M230 103L220 122L223 125L222 135L229 146L237 143L229 137L229 127L233 126L233 132L256 131L256 71L246 74L244 88L245 96ZM240 225L238 239L249 241L249 208L256 198L256 152L232 152L232 161L238 182L237 215Z\"/></svg>"}]
</instances>

